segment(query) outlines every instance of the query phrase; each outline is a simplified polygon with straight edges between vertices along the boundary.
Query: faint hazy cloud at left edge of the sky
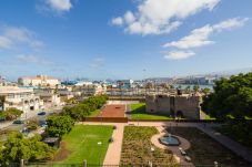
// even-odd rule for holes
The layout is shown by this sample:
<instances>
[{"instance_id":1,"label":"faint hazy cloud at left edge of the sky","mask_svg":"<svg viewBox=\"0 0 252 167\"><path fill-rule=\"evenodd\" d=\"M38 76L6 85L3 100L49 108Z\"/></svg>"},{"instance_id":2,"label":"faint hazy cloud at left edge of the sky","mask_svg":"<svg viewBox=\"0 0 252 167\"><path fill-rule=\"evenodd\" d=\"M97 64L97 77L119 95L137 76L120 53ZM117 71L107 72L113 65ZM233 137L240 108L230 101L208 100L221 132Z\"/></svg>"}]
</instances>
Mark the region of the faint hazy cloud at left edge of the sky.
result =
<instances>
[{"instance_id":1,"label":"faint hazy cloud at left edge of the sky","mask_svg":"<svg viewBox=\"0 0 252 167\"><path fill-rule=\"evenodd\" d=\"M0 27L0 49L11 49L17 44L28 44L31 48L40 48L43 42L37 40L34 32L27 28Z\"/></svg>"}]
</instances>

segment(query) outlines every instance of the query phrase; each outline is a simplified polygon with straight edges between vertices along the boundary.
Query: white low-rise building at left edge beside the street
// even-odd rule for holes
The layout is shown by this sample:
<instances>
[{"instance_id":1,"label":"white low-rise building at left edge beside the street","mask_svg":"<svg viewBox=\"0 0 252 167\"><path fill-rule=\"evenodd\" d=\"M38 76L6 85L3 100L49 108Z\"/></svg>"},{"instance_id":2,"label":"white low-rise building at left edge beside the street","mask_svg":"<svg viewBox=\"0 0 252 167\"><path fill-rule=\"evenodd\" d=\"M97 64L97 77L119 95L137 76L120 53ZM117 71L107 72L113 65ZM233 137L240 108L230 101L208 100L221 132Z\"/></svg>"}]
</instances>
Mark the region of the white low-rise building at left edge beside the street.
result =
<instances>
[{"instance_id":1,"label":"white low-rise building at left edge beside the street","mask_svg":"<svg viewBox=\"0 0 252 167\"><path fill-rule=\"evenodd\" d=\"M0 109L17 108L24 113L40 109L43 105L40 97L31 88L16 86L0 86L0 96L3 100Z\"/></svg>"}]
</instances>

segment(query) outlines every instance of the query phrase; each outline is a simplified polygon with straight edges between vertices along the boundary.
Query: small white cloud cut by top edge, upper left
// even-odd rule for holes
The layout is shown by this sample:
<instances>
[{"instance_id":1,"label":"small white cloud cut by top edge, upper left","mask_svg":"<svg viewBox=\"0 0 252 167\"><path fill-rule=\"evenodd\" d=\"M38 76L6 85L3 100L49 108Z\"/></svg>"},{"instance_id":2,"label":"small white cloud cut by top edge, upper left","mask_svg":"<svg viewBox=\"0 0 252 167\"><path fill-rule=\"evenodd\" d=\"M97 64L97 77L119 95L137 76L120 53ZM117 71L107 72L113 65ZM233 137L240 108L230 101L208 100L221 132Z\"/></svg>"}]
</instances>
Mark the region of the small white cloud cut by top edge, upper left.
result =
<instances>
[{"instance_id":1,"label":"small white cloud cut by top edge, upper left","mask_svg":"<svg viewBox=\"0 0 252 167\"><path fill-rule=\"evenodd\" d=\"M72 8L71 0L46 0L46 3L58 12L69 11Z\"/></svg>"}]
</instances>

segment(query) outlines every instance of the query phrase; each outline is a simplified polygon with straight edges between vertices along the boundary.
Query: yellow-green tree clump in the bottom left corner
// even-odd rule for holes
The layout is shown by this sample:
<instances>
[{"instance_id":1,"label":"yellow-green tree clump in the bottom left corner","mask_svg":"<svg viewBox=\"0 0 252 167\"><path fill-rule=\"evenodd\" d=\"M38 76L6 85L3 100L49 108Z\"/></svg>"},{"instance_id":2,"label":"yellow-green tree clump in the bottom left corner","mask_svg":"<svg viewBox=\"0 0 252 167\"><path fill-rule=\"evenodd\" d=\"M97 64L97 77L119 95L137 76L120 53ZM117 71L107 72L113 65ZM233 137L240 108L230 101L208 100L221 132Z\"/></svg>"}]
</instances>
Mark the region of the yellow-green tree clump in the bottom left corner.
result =
<instances>
[{"instance_id":1,"label":"yellow-green tree clump in the bottom left corner","mask_svg":"<svg viewBox=\"0 0 252 167\"><path fill-rule=\"evenodd\" d=\"M50 159L54 149L40 142L41 137L24 138L21 133L13 133L8 137L0 152L0 164L19 163L24 160Z\"/></svg>"}]
</instances>

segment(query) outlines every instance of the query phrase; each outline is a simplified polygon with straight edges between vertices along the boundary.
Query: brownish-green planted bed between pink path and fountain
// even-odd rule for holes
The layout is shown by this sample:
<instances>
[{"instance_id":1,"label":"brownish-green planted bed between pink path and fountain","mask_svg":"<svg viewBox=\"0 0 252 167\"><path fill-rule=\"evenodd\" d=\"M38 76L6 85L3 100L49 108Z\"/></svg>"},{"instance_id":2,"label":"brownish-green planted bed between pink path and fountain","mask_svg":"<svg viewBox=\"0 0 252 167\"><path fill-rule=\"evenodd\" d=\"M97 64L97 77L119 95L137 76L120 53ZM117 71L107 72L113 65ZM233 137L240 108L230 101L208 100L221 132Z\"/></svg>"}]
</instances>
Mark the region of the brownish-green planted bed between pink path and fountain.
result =
<instances>
[{"instance_id":1,"label":"brownish-green planted bed between pink path and fountain","mask_svg":"<svg viewBox=\"0 0 252 167\"><path fill-rule=\"evenodd\" d=\"M177 166L171 150L163 150L151 146L151 137L158 133L155 127L125 126L123 133L121 165L148 166L153 160L153 166ZM151 147L154 152L151 153Z\"/></svg>"}]
</instances>

